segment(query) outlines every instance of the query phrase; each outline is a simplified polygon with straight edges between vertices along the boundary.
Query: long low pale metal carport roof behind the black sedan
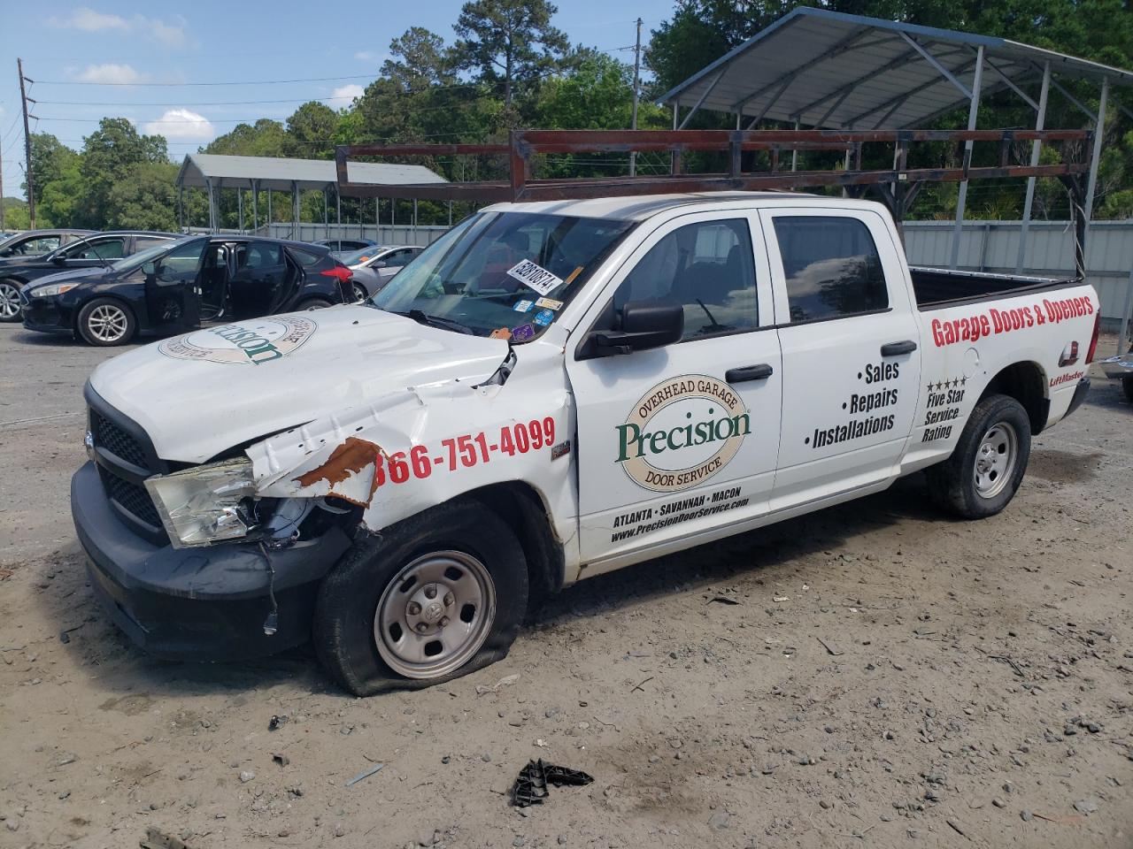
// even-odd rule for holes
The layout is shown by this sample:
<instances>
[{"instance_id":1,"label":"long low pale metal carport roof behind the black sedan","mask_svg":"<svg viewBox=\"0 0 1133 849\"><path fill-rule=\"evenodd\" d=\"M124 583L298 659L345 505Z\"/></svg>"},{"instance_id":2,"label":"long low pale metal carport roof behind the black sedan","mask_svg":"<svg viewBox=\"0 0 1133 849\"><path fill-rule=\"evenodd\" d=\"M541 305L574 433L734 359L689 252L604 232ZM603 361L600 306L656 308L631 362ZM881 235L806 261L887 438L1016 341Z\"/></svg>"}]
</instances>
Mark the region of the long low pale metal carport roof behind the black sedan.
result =
<instances>
[{"instance_id":1,"label":"long low pale metal carport roof behind the black sedan","mask_svg":"<svg viewBox=\"0 0 1133 849\"><path fill-rule=\"evenodd\" d=\"M363 183L428 183L446 182L435 171L424 165L352 162L350 179ZM206 189L273 189L291 191L338 188L334 160L288 160L271 156L221 156L211 153L190 153L177 173L177 185L182 188Z\"/></svg>"}]
</instances>

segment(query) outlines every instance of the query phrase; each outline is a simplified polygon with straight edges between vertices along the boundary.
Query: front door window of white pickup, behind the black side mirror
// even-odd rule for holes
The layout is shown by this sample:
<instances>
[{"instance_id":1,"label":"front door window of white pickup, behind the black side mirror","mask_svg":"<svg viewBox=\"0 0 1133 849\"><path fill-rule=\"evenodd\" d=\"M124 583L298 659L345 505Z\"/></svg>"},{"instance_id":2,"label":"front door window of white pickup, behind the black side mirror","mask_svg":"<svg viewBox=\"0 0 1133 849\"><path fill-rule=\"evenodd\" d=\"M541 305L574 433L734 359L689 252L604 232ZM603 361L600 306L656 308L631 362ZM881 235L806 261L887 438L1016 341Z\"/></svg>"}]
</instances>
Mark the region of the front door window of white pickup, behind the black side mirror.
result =
<instances>
[{"instance_id":1,"label":"front door window of white pickup, behind the black side mirror","mask_svg":"<svg viewBox=\"0 0 1133 849\"><path fill-rule=\"evenodd\" d=\"M617 286L614 309L630 301L680 303L682 341L758 327L747 220L704 221L665 235Z\"/></svg>"}]
</instances>

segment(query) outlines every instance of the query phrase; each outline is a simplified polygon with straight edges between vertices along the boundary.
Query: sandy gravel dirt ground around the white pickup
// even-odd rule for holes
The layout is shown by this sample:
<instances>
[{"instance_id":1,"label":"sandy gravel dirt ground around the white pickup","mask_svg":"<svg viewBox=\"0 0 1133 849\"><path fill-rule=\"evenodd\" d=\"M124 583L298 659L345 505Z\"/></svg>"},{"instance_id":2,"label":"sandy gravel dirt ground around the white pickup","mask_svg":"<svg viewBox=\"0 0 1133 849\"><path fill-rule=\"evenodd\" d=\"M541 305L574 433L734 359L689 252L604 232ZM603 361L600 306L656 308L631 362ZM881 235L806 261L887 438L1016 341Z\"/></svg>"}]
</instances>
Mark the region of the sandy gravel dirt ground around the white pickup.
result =
<instances>
[{"instance_id":1,"label":"sandy gravel dirt ground around the white pickup","mask_svg":"<svg viewBox=\"0 0 1133 849\"><path fill-rule=\"evenodd\" d=\"M504 662L363 701L305 651L159 662L102 616L67 481L108 355L0 326L0 846L1133 846L1114 384L993 520L914 478L580 584ZM509 807L540 756L595 781Z\"/></svg>"}]
</instances>

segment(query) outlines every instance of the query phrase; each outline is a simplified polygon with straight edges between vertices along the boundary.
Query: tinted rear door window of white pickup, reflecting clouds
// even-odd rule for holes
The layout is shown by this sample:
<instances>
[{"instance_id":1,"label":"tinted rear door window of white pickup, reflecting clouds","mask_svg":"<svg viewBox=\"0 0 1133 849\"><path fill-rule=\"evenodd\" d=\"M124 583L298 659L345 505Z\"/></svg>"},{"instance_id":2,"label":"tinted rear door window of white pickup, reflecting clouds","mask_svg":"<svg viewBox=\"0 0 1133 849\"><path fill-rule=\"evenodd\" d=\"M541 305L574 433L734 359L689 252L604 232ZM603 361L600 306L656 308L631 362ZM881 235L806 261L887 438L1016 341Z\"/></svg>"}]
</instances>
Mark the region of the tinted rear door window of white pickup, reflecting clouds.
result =
<instances>
[{"instance_id":1,"label":"tinted rear door window of white pickup, reflecting clouds","mask_svg":"<svg viewBox=\"0 0 1133 849\"><path fill-rule=\"evenodd\" d=\"M889 306L869 229L858 218L776 216L791 323L876 312Z\"/></svg>"}]
</instances>

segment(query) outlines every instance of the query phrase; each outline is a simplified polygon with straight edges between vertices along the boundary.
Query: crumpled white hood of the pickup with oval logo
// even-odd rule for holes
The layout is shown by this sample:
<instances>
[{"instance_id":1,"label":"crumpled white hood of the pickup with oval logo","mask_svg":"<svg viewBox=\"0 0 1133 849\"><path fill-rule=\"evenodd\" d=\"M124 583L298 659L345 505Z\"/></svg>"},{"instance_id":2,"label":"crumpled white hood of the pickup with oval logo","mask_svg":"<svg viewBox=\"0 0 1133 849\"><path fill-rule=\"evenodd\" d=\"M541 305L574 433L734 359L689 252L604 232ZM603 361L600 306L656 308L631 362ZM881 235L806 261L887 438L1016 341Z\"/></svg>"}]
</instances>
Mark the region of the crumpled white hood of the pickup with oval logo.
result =
<instances>
[{"instance_id":1,"label":"crumpled white hood of the pickup with oval logo","mask_svg":"<svg viewBox=\"0 0 1133 849\"><path fill-rule=\"evenodd\" d=\"M162 340L102 363L91 387L145 429L160 457L201 463L390 392L480 383L506 355L503 340L342 306Z\"/></svg>"}]
</instances>

